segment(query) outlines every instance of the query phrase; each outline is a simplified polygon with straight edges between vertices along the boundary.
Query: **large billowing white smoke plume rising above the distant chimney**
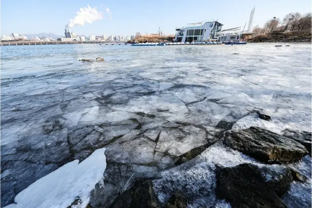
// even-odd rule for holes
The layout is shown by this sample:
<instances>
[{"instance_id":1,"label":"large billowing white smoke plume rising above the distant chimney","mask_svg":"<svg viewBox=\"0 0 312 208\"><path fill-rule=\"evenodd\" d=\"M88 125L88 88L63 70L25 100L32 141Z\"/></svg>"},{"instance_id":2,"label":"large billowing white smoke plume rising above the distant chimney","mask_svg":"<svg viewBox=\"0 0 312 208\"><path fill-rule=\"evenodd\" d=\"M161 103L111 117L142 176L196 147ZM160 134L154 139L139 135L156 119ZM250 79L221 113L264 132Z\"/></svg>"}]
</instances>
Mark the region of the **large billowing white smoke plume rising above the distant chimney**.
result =
<instances>
[{"instance_id":1,"label":"large billowing white smoke plume rising above the distant chimney","mask_svg":"<svg viewBox=\"0 0 312 208\"><path fill-rule=\"evenodd\" d=\"M87 5L87 7L80 8L80 11L77 12L77 16L74 17L74 19L70 19L68 24L65 25L65 28L74 27L76 25L83 26L85 23L92 23L102 19L102 12L98 12L96 7L91 8L91 6Z\"/></svg>"}]
</instances>

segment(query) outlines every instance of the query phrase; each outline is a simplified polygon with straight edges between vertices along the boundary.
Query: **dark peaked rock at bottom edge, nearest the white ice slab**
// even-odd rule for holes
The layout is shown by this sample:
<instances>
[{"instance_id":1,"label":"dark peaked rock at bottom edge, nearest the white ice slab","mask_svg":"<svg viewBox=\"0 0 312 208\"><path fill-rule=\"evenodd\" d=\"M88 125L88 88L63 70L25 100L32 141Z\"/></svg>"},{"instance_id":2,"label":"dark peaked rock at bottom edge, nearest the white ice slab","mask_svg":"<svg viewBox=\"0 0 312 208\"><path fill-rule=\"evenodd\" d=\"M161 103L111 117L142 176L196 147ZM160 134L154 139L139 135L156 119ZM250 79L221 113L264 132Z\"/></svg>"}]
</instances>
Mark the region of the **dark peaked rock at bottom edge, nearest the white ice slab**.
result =
<instances>
[{"instance_id":1,"label":"dark peaked rock at bottom edge, nearest the white ice slab","mask_svg":"<svg viewBox=\"0 0 312 208\"><path fill-rule=\"evenodd\" d=\"M134 187L121 193L110 208L160 208L151 180L137 179Z\"/></svg>"}]
</instances>

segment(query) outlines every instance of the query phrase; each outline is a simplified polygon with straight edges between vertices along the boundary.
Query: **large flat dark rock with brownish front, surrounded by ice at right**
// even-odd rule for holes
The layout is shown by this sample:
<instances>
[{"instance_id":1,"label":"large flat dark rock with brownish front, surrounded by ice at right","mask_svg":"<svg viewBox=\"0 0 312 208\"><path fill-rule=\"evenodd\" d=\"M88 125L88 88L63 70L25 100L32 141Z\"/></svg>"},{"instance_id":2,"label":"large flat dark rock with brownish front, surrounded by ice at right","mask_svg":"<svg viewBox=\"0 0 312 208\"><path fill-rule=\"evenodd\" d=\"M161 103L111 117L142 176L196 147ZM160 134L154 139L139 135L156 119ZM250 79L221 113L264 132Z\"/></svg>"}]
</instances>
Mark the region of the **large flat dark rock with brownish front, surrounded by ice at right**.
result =
<instances>
[{"instance_id":1,"label":"large flat dark rock with brownish front, surrounded by ice at right","mask_svg":"<svg viewBox=\"0 0 312 208\"><path fill-rule=\"evenodd\" d=\"M300 143L254 126L225 132L223 143L265 163L292 163L308 154Z\"/></svg>"}]
</instances>

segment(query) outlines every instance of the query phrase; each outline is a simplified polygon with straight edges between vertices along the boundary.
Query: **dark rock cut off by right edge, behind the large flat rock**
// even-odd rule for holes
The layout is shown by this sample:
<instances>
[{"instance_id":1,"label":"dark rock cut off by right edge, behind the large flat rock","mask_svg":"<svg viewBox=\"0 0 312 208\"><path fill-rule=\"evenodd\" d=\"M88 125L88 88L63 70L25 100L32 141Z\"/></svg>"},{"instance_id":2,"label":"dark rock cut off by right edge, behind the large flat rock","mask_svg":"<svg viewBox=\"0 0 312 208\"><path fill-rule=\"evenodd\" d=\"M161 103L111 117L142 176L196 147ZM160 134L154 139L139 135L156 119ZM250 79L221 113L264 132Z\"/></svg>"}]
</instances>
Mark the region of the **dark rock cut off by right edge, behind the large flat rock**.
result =
<instances>
[{"instance_id":1,"label":"dark rock cut off by right edge, behind the large flat rock","mask_svg":"<svg viewBox=\"0 0 312 208\"><path fill-rule=\"evenodd\" d=\"M299 142L301 145L305 146L310 155L311 155L311 146L312 146L312 134L311 132L307 131L294 131L291 129L285 129L282 131L283 136L289 137L297 142Z\"/></svg>"}]
</instances>

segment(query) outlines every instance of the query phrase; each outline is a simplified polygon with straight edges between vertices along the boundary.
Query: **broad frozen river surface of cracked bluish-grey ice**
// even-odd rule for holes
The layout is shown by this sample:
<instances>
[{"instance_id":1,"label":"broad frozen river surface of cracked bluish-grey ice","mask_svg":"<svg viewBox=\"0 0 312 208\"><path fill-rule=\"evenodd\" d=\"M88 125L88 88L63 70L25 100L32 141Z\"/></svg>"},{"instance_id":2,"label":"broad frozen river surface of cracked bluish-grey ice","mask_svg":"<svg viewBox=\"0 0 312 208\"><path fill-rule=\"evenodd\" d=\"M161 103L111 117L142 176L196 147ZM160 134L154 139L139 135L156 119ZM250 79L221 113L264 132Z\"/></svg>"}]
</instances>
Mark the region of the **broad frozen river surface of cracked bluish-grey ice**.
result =
<instances>
[{"instance_id":1,"label":"broad frozen river surface of cracked bluish-grey ice","mask_svg":"<svg viewBox=\"0 0 312 208\"><path fill-rule=\"evenodd\" d=\"M1 206L104 146L151 176L206 142L193 125L311 131L311 55L311 44L1 46Z\"/></svg>"}]
</instances>

